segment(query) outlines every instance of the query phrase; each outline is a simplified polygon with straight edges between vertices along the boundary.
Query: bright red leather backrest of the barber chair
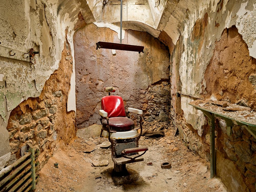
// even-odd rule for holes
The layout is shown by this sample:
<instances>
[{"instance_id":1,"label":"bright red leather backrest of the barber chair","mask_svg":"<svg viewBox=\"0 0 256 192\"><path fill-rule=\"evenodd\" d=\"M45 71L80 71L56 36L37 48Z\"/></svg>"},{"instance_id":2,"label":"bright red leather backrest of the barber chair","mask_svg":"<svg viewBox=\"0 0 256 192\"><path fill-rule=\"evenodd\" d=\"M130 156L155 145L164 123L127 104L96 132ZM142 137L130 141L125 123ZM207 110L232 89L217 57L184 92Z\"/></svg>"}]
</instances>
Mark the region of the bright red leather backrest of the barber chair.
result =
<instances>
[{"instance_id":1,"label":"bright red leather backrest of the barber chair","mask_svg":"<svg viewBox=\"0 0 256 192\"><path fill-rule=\"evenodd\" d=\"M101 98L101 109L108 113L108 117L125 117L124 101L117 95L109 95Z\"/></svg>"}]
</instances>

